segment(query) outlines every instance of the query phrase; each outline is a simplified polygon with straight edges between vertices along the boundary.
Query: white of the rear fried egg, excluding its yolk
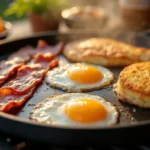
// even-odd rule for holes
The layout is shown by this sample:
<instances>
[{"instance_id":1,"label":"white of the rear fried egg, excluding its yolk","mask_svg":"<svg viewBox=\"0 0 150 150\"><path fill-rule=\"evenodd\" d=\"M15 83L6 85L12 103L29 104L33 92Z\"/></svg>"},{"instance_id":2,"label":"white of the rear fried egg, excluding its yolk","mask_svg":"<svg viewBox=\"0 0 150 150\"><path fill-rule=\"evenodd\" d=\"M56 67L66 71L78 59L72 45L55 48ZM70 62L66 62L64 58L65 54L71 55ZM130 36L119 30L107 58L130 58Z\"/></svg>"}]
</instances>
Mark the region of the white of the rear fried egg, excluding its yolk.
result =
<instances>
[{"instance_id":1,"label":"white of the rear fried egg, excluding its yolk","mask_svg":"<svg viewBox=\"0 0 150 150\"><path fill-rule=\"evenodd\" d=\"M78 83L71 80L68 76L69 68L73 68L76 65L92 66L98 69L102 74L103 78L101 81L90 84ZM109 85L114 79L113 73L107 68L98 65L75 63L60 66L53 70L50 70L45 78L46 83L50 84L54 88L59 88L67 92L82 92L91 91L94 89L100 89L106 85Z\"/></svg>"}]
</instances>

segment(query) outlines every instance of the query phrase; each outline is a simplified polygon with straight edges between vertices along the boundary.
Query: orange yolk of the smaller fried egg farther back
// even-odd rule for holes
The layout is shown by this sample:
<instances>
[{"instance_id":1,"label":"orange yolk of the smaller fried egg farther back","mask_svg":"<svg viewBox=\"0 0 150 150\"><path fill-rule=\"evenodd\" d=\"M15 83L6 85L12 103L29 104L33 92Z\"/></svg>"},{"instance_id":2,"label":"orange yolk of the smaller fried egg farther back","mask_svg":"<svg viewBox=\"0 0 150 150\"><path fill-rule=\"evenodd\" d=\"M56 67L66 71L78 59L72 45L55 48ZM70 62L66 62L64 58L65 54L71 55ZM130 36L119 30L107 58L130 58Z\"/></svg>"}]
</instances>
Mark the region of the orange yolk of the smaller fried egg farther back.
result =
<instances>
[{"instance_id":1,"label":"orange yolk of the smaller fried egg farther back","mask_svg":"<svg viewBox=\"0 0 150 150\"><path fill-rule=\"evenodd\" d=\"M75 66L68 70L71 80L78 83L90 84L102 80L102 73L92 66Z\"/></svg>"}]
</instances>

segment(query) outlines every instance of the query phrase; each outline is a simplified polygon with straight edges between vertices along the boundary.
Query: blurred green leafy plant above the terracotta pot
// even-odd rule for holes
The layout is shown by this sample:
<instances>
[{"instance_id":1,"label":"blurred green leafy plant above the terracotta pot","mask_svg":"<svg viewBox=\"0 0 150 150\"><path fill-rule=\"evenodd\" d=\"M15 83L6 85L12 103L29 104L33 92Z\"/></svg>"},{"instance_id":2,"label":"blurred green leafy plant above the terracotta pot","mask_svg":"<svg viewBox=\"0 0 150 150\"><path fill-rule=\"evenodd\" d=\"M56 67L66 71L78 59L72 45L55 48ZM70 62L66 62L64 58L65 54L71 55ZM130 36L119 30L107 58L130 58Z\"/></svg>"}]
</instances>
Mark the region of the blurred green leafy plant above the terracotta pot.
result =
<instances>
[{"instance_id":1,"label":"blurred green leafy plant above the terracotta pot","mask_svg":"<svg viewBox=\"0 0 150 150\"><path fill-rule=\"evenodd\" d=\"M51 12L57 14L68 6L67 0L15 0L5 10L4 15L9 16L16 14L22 17L26 13L45 14Z\"/></svg>"}]
</instances>

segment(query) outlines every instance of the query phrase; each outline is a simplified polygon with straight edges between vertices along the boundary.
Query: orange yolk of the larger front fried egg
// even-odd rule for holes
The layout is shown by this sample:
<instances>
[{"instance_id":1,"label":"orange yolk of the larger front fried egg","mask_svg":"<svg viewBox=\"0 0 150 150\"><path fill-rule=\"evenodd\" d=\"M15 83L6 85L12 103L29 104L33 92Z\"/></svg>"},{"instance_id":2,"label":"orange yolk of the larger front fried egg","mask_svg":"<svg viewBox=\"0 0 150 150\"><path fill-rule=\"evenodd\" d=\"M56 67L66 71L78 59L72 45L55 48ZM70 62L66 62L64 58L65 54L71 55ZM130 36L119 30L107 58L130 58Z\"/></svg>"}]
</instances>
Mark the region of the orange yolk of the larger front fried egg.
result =
<instances>
[{"instance_id":1,"label":"orange yolk of the larger front fried egg","mask_svg":"<svg viewBox=\"0 0 150 150\"><path fill-rule=\"evenodd\" d=\"M82 98L64 105L65 114L78 123L93 123L104 120L107 115L105 107L95 100Z\"/></svg>"}]
</instances>

